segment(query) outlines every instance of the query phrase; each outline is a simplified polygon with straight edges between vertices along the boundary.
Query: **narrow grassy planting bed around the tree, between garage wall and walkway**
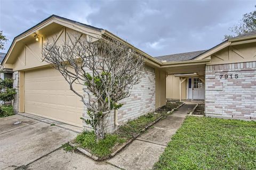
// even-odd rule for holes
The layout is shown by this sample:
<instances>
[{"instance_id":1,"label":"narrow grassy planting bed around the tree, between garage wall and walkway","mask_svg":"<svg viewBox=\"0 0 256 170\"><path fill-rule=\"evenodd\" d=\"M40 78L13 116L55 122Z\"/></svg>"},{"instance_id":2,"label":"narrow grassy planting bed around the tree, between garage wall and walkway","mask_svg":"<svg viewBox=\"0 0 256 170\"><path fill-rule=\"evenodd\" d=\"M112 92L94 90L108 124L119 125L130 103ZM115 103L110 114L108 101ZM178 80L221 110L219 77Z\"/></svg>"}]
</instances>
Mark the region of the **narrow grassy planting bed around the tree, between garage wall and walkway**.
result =
<instances>
[{"instance_id":1,"label":"narrow grassy planting bed around the tree, between garage wall and walkway","mask_svg":"<svg viewBox=\"0 0 256 170\"><path fill-rule=\"evenodd\" d=\"M137 119L131 120L122 125L113 134L106 134L105 139L96 141L96 136L93 131L84 131L78 134L75 143L100 159L108 158L112 152L117 150L121 145L132 139L141 130L149 124L153 123L161 116L167 116L167 111L179 106L180 103L167 103L155 113L140 116ZM68 144L64 144L63 148L67 151L74 150Z\"/></svg>"}]
</instances>

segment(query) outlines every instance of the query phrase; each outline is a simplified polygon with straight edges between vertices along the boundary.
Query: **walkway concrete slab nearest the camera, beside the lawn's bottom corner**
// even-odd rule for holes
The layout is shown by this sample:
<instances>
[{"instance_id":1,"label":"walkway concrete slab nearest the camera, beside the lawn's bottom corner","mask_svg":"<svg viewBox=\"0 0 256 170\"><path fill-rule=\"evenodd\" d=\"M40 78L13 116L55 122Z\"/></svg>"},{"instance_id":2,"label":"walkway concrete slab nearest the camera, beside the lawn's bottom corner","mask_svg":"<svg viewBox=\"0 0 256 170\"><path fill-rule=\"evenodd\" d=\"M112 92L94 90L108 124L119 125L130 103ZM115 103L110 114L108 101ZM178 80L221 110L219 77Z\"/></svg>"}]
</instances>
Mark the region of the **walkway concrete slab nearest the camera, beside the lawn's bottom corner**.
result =
<instances>
[{"instance_id":1,"label":"walkway concrete slab nearest the camera, beside the lawn's bottom corner","mask_svg":"<svg viewBox=\"0 0 256 170\"><path fill-rule=\"evenodd\" d=\"M134 140L108 162L126 170L152 169L164 149L162 145Z\"/></svg>"}]
</instances>

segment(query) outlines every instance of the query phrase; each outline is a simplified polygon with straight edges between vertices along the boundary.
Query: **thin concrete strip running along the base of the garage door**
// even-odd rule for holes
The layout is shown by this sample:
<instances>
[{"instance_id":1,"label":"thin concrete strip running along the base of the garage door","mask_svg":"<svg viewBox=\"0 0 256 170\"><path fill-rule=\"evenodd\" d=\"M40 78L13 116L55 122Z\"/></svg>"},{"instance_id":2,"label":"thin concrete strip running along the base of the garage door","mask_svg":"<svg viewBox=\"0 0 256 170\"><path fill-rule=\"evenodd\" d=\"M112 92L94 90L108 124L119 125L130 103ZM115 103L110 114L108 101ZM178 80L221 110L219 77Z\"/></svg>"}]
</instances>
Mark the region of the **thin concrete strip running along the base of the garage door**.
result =
<instances>
[{"instance_id":1,"label":"thin concrete strip running along the base of the garage door","mask_svg":"<svg viewBox=\"0 0 256 170\"><path fill-rule=\"evenodd\" d=\"M40 120L41 122L44 122L44 123L55 124L55 125L63 127L63 128L71 129L72 131L77 132L77 133L80 133L80 132L83 131L82 127L69 125L69 124L62 123L62 122L59 122L59 121L56 121L56 120L47 119L47 118L44 118L44 117L41 117L41 116L36 116L36 115L32 115L32 114L27 114L27 113L22 113L20 115L23 115L23 116L26 116L26 117L29 117L29 118L32 118L32 119Z\"/></svg>"}]
</instances>

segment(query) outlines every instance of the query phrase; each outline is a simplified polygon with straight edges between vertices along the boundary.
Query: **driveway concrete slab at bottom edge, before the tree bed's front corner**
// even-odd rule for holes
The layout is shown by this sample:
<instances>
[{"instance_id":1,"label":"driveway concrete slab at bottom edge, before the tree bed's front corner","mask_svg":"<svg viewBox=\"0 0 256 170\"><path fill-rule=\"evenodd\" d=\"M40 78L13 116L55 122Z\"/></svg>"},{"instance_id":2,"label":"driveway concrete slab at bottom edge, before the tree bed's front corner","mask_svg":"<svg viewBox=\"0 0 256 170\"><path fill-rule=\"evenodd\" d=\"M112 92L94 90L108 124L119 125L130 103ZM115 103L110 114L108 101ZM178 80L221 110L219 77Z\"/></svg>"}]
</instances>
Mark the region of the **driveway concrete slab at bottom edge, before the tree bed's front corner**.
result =
<instances>
[{"instance_id":1,"label":"driveway concrete slab at bottom edge, before the tree bed's front corner","mask_svg":"<svg viewBox=\"0 0 256 170\"><path fill-rule=\"evenodd\" d=\"M30 164L27 169L37 169L37 170L117 170L112 165L109 165L105 162L94 161L86 156L83 156L79 153L66 152L62 149L59 149L46 157L41 158L38 161Z\"/></svg>"}]
</instances>

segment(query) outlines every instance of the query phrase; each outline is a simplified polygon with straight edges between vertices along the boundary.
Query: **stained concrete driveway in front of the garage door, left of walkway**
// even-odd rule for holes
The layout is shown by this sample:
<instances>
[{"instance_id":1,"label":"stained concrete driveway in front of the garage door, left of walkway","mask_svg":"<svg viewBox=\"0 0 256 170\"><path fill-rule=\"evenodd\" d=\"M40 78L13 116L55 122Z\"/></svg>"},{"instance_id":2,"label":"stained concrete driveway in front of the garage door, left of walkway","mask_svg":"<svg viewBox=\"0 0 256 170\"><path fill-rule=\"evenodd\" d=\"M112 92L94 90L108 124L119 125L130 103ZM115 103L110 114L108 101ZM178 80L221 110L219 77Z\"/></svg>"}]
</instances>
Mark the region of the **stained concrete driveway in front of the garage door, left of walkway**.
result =
<instances>
[{"instance_id":1,"label":"stained concrete driveway in front of the garage door, left of walkway","mask_svg":"<svg viewBox=\"0 0 256 170\"><path fill-rule=\"evenodd\" d=\"M22 114L0 118L0 169L17 170L115 170L61 145L73 140L82 128L43 117ZM14 125L15 122L22 122ZM55 124L55 126L51 126Z\"/></svg>"}]
</instances>

